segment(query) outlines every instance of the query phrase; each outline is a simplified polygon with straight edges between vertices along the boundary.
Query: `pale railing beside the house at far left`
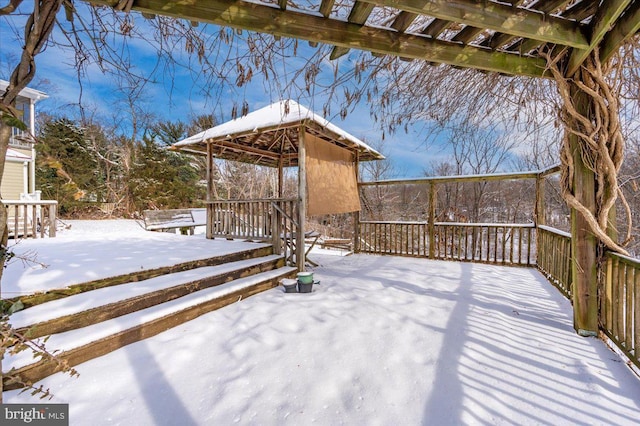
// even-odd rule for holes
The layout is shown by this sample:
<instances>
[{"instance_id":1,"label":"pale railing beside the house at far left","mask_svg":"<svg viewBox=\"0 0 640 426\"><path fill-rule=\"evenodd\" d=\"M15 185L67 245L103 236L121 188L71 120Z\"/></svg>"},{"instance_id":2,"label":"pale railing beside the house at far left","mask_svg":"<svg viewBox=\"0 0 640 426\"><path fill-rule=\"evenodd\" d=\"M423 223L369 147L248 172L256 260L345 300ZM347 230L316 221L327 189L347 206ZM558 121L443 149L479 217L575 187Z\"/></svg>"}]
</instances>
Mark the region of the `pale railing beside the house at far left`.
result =
<instances>
[{"instance_id":1,"label":"pale railing beside the house at far left","mask_svg":"<svg viewBox=\"0 0 640 426\"><path fill-rule=\"evenodd\" d=\"M7 209L9 237L44 238L56 236L58 202L54 200L3 200Z\"/></svg>"}]
</instances>

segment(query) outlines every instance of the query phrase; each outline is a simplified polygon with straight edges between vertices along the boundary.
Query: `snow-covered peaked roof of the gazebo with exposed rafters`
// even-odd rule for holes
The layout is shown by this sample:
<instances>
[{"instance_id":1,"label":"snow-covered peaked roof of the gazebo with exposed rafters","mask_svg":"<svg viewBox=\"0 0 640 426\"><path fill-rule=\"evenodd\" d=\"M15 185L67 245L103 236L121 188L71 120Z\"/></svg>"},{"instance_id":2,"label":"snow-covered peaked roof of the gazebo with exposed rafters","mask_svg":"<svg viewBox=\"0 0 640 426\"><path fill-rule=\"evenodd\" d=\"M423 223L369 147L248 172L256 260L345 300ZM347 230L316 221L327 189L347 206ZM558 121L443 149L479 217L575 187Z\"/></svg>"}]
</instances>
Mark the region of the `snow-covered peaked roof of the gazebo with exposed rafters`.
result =
<instances>
[{"instance_id":1,"label":"snow-covered peaked roof of the gazebo with exposed rafters","mask_svg":"<svg viewBox=\"0 0 640 426\"><path fill-rule=\"evenodd\" d=\"M283 100L190 136L172 149L206 154L211 145L214 157L262 166L298 165L300 127L328 143L358 153L359 161L381 160L384 156L355 136L293 100Z\"/></svg>"}]
</instances>

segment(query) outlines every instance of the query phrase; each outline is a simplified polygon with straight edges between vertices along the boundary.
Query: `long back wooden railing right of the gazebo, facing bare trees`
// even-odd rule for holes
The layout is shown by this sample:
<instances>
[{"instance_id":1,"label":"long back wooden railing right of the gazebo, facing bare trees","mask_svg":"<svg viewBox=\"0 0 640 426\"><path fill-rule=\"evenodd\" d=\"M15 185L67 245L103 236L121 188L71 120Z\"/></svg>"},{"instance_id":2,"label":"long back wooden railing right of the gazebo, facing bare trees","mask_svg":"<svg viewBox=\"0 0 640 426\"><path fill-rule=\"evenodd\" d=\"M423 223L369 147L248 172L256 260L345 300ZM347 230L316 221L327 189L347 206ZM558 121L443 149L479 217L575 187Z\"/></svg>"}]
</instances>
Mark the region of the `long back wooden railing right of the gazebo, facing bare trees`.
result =
<instances>
[{"instance_id":1,"label":"long back wooden railing right of the gazebo, facing bare trees","mask_svg":"<svg viewBox=\"0 0 640 426\"><path fill-rule=\"evenodd\" d=\"M533 224L362 221L360 251L500 265L535 263Z\"/></svg>"}]
</instances>

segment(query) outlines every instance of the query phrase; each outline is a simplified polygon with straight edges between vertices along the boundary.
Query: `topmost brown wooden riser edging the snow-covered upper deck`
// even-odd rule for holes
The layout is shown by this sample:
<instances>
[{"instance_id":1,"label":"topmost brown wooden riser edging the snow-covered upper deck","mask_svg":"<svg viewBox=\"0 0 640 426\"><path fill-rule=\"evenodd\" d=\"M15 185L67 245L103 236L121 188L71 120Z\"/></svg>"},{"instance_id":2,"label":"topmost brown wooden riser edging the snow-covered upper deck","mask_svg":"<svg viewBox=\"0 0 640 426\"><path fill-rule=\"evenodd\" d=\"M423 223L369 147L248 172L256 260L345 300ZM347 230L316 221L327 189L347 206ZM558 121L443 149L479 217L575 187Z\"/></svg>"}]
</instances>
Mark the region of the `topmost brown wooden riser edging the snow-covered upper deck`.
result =
<instances>
[{"instance_id":1,"label":"topmost brown wooden riser edging the snow-covered upper deck","mask_svg":"<svg viewBox=\"0 0 640 426\"><path fill-rule=\"evenodd\" d=\"M250 250L242 250L234 253L225 253L222 255L211 256L199 260L191 260L187 262L178 263L170 266L162 266L158 268L143 269L140 271L117 275L109 278L100 278L94 281L85 282L82 284L69 285L66 288L60 288L56 290L50 290L43 293L36 293L28 296L16 297L13 299L7 299L12 303L21 303L24 305L24 309L32 306L39 305L41 303L50 302L69 296L73 296L86 291L92 291L100 288L119 286L134 281L142 281L149 278L158 277L161 275L172 274L175 272L187 271L190 269L200 268L203 266L221 265L228 262L234 262L238 260L252 259L256 257L268 256L273 253L273 247L266 244L258 244L256 248ZM108 261L108 259L105 259Z\"/></svg>"}]
</instances>

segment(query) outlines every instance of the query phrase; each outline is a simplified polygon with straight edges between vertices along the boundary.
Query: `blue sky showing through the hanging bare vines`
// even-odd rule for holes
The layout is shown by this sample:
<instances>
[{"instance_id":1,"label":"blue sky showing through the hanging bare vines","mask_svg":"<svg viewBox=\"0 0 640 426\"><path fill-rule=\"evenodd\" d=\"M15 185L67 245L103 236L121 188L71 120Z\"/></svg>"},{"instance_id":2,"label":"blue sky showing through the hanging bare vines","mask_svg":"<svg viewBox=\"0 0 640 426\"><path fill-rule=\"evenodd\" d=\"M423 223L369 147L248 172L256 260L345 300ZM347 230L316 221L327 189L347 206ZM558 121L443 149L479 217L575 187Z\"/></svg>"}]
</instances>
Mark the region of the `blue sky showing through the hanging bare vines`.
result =
<instances>
[{"instance_id":1,"label":"blue sky showing through the hanging bare vines","mask_svg":"<svg viewBox=\"0 0 640 426\"><path fill-rule=\"evenodd\" d=\"M29 3L29 2L27 2ZM136 25L144 28L145 22L138 14L132 14ZM63 16L60 17L63 20ZM15 38L12 26L20 28L24 17L10 16L0 18L0 40L2 41L0 53L0 78L7 79L9 70L15 64L20 54L19 43L11 42ZM208 26L208 31L219 31L219 27ZM203 30L207 31L207 30ZM54 33L56 40L63 40L60 32ZM242 49L242 43L238 49ZM297 56L288 57L275 72L279 73L281 80L286 80L287 73L299 69L306 60L306 55L312 53L311 47L306 42L300 42ZM136 39L129 39L125 48L125 55L131 58L131 69L142 73L149 73L156 64L155 52L148 45ZM189 57L180 50L180 46L174 51L182 61L188 61ZM353 55L346 55L337 63L326 63L321 70L320 80L333 79L334 66L339 69L353 67L351 62ZM191 58L193 61L193 58ZM81 78L82 85L78 83L78 76L74 66L73 52L70 49L60 49L49 46L38 55L37 78L31 87L46 91L50 98L42 102L38 108L40 111L62 113L68 116L77 115L77 104L82 99L82 104L90 114L94 114L106 123L117 123L123 131L130 126L130 114L126 105L126 96L120 86L111 76L104 75L97 66L89 65ZM141 103L145 112L153 113L159 119L183 120L213 113L219 120L229 120L231 107L234 103L242 105L244 101L249 104L249 110L255 110L287 97L285 93L277 90L269 91L260 75L243 86L234 84L220 84L217 93L205 92L206 76L202 73L194 74L183 68L176 68L172 75L156 71L154 81L145 85L143 90L144 102ZM42 85L39 83L46 82ZM298 102L322 115L322 106L327 99L327 94L318 89L316 93L297 98ZM364 102L357 105L345 120L342 120L338 112L340 110L341 97L332 102L331 115L327 118L335 125L345 129L356 137L366 140L368 143L379 147L382 132L377 123L369 116L369 107ZM428 125L428 123L427 123ZM399 130L395 134L386 134L381 148L394 166L393 177L420 177L423 170L430 163L445 160L448 157L446 146L425 146L424 136L418 129L425 123L418 123L408 128L408 133Z\"/></svg>"}]
</instances>

